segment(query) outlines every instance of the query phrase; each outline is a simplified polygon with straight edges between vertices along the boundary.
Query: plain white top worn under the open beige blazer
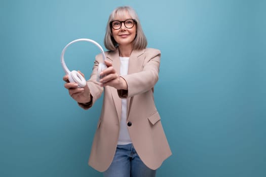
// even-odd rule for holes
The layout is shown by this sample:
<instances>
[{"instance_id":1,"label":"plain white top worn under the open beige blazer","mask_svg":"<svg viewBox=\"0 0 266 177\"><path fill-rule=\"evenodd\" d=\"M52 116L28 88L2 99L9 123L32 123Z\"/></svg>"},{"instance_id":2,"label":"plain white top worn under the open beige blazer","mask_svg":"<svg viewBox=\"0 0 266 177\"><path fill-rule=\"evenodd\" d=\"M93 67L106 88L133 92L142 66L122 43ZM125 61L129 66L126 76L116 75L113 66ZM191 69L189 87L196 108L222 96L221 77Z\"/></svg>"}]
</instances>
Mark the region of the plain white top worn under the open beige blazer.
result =
<instances>
[{"instance_id":1,"label":"plain white top worn under the open beige blazer","mask_svg":"<svg viewBox=\"0 0 266 177\"><path fill-rule=\"evenodd\" d=\"M129 57L120 57L120 75L128 74ZM127 128L127 99L121 99L121 125L118 137L118 145L127 145L132 143Z\"/></svg>"}]
</instances>

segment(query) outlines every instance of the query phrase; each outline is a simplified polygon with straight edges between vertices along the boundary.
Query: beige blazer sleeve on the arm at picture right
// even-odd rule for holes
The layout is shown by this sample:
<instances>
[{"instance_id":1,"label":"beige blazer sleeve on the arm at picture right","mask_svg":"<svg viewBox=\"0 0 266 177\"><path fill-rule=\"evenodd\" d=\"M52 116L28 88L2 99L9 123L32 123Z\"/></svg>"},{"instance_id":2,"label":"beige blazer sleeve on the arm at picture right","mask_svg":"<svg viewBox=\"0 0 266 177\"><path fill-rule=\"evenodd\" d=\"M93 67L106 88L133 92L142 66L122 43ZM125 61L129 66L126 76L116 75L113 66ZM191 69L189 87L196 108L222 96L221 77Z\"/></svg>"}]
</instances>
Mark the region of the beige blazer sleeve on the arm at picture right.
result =
<instances>
[{"instance_id":1,"label":"beige blazer sleeve on the arm at picture right","mask_svg":"<svg viewBox=\"0 0 266 177\"><path fill-rule=\"evenodd\" d=\"M121 76L126 80L128 90L118 90L119 97L133 97L153 90L154 85L159 79L161 51L157 49L146 49L143 55L144 62L140 72Z\"/></svg>"}]
</instances>

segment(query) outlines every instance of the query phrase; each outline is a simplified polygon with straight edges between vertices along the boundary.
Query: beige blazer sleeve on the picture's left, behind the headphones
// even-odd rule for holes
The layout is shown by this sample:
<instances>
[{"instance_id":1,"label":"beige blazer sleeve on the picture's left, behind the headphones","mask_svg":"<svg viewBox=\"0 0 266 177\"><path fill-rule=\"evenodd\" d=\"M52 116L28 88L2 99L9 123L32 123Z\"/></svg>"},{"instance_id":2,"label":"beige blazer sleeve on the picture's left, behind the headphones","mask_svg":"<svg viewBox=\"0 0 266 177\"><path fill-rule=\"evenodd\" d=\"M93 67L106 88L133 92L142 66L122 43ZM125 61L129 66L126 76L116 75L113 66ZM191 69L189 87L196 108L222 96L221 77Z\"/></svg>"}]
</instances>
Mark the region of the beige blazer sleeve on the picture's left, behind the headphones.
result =
<instances>
[{"instance_id":1,"label":"beige blazer sleeve on the picture's left, behind the headphones","mask_svg":"<svg viewBox=\"0 0 266 177\"><path fill-rule=\"evenodd\" d=\"M90 89L90 94L92 97L92 100L89 103L83 104L83 103L78 103L80 107L83 109L89 109L91 108L96 100L101 97L101 94L103 92L103 87L100 86L99 82L97 82L97 70L99 63L102 62L102 55L99 54L95 57L94 65L93 65L93 71L91 73L90 79L87 80L87 86Z\"/></svg>"}]
</instances>

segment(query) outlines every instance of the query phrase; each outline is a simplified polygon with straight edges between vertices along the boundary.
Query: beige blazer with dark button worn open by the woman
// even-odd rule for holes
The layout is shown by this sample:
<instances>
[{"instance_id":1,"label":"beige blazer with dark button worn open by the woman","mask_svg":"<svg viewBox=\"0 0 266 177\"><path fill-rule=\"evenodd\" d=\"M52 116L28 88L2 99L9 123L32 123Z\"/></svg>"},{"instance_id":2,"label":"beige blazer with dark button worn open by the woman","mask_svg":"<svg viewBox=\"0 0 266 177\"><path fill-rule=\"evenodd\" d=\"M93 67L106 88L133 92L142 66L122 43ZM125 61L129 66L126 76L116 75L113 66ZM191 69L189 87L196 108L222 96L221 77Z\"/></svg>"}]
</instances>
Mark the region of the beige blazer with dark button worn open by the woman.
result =
<instances>
[{"instance_id":1,"label":"beige blazer with dark button worn open by the woman","mask_svg":"<svg viewBox=\"0 0 266 177\"><path fill-rule=\"evenodd\" d=\"M120 73L119 51L105 52L106 59L112 62ZM95 132L89 165L98 171L105 171L116 152L121 121L121 98L127 98L127 122L131 141L144 164L157 169L172 153L168 145L161 117L154 103L154 85L158 81L161 52L156 49L134 50L130 55L128 75L123 76L128 91L105 89L96 82L97 67L102 55L96 56L93 72L87 81L93 97L89 109L104 91L101 115ZM166 117L165 117L166 118Z\"/></svg>"}]
</instances>

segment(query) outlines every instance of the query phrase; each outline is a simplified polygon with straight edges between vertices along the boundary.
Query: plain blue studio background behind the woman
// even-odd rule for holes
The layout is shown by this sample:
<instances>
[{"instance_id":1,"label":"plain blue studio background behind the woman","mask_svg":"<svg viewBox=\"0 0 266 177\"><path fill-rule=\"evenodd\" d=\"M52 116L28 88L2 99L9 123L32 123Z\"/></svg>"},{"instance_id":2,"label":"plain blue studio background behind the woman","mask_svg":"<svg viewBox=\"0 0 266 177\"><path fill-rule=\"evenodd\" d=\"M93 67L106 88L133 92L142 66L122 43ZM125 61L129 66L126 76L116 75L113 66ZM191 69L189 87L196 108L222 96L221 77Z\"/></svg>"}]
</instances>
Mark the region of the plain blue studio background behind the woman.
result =
<instances>
[{"instance_id":1,"label":"plain blue studio background behind the woman","mask_svg":"<svg viewBox=\"0 0 266 177\"><path fill-rule=\"evenodd\" d=\"M0 2L0 176L102 176L87 165L102 100L84 111L64 88L64 46L103 46L118 6L162 52L155 101L173 155L157 176L266 176L265 1ZM75 43L86 78L99 50ZM102 99L102 98L101 98Z\"/></svg>"}]
</instances>

